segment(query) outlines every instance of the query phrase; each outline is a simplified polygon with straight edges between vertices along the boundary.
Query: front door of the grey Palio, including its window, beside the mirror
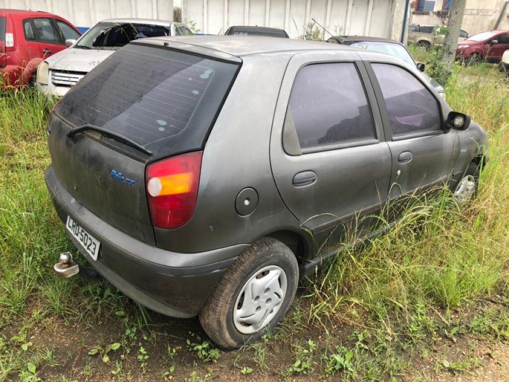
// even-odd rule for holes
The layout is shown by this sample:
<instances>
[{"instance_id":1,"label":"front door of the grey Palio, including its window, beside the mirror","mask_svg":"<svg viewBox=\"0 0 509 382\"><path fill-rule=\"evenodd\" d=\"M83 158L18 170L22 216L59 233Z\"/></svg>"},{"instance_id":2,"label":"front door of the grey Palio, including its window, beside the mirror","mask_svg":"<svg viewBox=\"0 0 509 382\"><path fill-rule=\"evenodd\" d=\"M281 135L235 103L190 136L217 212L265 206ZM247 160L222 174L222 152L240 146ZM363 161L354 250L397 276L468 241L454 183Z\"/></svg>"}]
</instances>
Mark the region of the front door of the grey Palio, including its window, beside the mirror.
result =
<instances>
[{"instance_id":1,"label":"front door of the grey Palio, including its window, beside the mirror","mask_svg":"<svg viewBox=\"0 0 509 382\"><path fill-rule=\"evenodd\" d=\"M438 96L410 70L372 62L392 157L390 199L447 182L457 156L456 130L445 132ZM378 88L378 89L377 89Z\"/></svg>"}]
</instances>

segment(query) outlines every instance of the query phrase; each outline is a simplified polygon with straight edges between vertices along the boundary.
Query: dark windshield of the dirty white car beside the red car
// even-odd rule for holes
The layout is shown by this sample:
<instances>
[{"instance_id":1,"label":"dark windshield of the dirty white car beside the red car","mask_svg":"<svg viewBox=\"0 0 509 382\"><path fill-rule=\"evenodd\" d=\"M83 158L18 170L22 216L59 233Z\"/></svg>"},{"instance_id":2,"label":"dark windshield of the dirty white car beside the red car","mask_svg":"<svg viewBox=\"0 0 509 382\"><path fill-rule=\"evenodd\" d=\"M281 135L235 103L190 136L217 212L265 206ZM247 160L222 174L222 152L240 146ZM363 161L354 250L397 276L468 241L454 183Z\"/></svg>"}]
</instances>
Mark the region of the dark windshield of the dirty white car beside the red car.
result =
<instances>
[{"instance_id":1,"label":"dark windshield of the dirty white car beside the red car","mask_svg":"<svg viewBox=\"0 0 509 382\"><path fill-rule=\"evenodd\" d=\"M83 49L118 49L132 40L144 37L169 36L168 28L148 24L100 22L87 31L74 47Z\"/></svg>"}]
</instances>

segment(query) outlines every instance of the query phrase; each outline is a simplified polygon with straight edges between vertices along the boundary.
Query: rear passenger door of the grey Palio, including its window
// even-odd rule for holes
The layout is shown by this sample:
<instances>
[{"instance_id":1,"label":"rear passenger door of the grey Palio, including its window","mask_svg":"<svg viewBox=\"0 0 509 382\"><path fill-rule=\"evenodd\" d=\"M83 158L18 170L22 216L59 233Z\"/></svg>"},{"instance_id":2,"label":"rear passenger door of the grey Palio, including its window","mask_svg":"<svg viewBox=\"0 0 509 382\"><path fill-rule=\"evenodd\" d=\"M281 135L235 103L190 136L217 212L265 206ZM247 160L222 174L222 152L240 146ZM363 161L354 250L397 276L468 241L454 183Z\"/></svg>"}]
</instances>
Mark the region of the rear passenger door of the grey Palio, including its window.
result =
<instances>
[{"instance_id":1,"label":"rear passenger door of the grey Palio, including its window","mask_svg":"<svg viewBox=\"0 0 509 382\"><path fill-rule=\"evenodd\" d=\"M359 216L386 200L391 158L366 71L355 52L300 53L282 82L270 144L276 186L317 243L337 247ZM374 105L374 106L373 106Z\"/></svg>"}]
</instances>

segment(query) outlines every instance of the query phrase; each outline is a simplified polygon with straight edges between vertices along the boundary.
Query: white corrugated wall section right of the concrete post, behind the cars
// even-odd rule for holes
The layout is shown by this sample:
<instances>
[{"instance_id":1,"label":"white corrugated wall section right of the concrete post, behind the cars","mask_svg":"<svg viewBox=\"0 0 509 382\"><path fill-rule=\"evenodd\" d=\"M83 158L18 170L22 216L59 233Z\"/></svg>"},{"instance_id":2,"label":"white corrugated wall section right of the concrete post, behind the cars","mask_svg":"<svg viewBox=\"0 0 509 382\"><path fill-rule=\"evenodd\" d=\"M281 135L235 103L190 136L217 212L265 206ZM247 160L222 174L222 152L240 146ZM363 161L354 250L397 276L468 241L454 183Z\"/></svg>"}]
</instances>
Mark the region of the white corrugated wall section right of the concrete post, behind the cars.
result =
<instances>
[{"instance_id":1,"label":"white corrugated wall section right of the concrete post, behind the cars","mask_svg":"<svg viewBox=\"0 0 509 382\"><path fill-rule=\"evenodd\" d=\"M390 38L399 17L394 5L404 0L183 0L183 18L203 33L224 33L231 25L259 25L285 29L290 37L304 32L316 19L331 33ZM401 7L398 7L398 9ZM402 19L402 17L401 17ZM394 26L393 26L394 24Z\"/></svg>"}]
</instances>

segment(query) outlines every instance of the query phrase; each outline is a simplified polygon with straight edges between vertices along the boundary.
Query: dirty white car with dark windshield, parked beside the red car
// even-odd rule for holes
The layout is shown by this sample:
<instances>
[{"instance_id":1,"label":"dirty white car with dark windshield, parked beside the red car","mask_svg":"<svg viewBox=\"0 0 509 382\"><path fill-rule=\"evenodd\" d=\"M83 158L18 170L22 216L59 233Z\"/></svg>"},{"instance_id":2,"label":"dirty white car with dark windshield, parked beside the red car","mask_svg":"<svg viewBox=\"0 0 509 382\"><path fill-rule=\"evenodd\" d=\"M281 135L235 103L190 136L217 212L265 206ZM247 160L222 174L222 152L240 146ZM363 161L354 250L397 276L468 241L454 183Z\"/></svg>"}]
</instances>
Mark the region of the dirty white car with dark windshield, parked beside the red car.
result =
<instances>
[{"instance_id":1,"label":"dirty white car with dark windshield, parked beside the red car","mask_svg":"<svg viewBox=\"0 0 509 382\"><path fill-rule=\"evenodd\" d=\"M66 40L68 49L48 57L37 70L37 89L64 96L84 75L117 49L145 37L193 35L180 22L119 18L98 22L78 40Z\"/></svg>"}]
</instances>

